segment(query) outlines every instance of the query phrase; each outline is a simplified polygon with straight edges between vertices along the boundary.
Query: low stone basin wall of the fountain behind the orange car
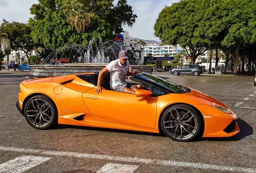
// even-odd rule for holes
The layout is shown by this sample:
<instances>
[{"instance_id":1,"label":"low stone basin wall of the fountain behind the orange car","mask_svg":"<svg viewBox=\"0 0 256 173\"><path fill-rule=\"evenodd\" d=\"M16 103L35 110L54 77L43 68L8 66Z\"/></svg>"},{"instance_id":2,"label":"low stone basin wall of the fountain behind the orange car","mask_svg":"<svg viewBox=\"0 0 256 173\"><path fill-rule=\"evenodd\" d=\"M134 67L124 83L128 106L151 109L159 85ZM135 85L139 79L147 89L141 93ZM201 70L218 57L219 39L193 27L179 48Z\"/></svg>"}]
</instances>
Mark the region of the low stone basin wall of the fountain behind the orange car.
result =
<instances>
[{"instance_id":1,"label":"low stone basin wall of the fountain behind the orange car","mask_svg":"<svg viewBox=\"0 0 256 173\"><path fill-rule=\"evenodd\" d=\"M86 72L100 72L107 64L66 64L66 65L29 65L31 76L55 77ZM130 65L130 71L139 70L152 74L152 66Z\"/></svg>"}]
</instances>

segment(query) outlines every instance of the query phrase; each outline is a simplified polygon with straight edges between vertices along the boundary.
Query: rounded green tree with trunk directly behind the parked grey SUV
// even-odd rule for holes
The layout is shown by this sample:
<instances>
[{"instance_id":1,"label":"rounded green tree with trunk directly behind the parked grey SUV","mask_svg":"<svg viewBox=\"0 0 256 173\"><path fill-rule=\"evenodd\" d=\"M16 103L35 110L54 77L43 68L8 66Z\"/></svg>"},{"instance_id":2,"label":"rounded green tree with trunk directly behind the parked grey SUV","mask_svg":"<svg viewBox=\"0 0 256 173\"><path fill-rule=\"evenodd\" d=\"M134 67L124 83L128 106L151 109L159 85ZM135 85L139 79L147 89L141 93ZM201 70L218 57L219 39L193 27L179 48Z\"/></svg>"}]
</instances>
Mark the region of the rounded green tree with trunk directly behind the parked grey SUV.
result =
<instances>
[{"instance_id":1,"label":"rounded green tree with trunk directly behind the parked grey SUV","mask_svg":"<svg viewBox=\"0 0 256 173\"><path fill-rule=\"evenodd\" d=\"M199 25L203 10L200 4L199 0L182 0L165 6L154 25L155 36L163 44L180 44L191 57L192 64L212 44L204 35L204 28Z\"/></svg>"}]
</instances>

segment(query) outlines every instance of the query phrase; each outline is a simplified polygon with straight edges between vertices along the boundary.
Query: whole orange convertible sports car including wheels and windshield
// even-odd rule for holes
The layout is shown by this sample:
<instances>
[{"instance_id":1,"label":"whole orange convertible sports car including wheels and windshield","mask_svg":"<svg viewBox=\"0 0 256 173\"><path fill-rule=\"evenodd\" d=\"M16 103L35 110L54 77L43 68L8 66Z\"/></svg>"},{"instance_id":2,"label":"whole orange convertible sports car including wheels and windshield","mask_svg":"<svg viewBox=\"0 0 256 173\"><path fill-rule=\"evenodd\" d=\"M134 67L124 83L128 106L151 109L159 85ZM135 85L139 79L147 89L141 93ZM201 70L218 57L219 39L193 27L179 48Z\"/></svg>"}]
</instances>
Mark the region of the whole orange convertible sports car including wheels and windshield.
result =
<instances>
[{"instance_id":1,"label":"whole orange convertible sports car including wheels and windshield","mask_svg":"<svg viewBox=\"0 0 256 173\"><path fill-rule=\"evenodd\" d=\"M130 77L143 84L136 94L112 91L110 73L95 93L98 73L25 80L17 108L35 129L55 124L145 131L175 141L231 137L239 133L237 115L225 104L195 89L145 72Z\"/></svg>"}]
</instances>

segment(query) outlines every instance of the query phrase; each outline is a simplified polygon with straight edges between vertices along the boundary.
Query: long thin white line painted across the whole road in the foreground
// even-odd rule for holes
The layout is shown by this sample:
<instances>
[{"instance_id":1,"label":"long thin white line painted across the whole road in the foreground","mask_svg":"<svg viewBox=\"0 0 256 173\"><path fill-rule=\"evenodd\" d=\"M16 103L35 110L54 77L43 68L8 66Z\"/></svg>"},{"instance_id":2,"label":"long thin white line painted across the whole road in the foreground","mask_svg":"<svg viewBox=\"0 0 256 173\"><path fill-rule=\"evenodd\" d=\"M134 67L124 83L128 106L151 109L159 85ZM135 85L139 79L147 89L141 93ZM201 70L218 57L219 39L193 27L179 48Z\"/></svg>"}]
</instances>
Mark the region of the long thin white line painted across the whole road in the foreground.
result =
<instances>
[{"instance_id":1,"label":"long thin white line painted across the whole road in the foreground","mask_svg":"<svg viewBox=\"0 0 256 173\"><path fill-rule=\"evenodd\" d=\"M114 161L126 161L126 162L135 162L135 163L179 166L179 167L193 167L193 168L200 168L200 169L213 169L213 170L219 170L219 171L256 173L256 168L231 167L231 166L225 166L225 165L211 165L211 164L204 164L204 163L190 163L190 162L179 162L179 161L169 161L169 160L144 159L144 158L136 158L136 157L118 157L118 156L109 156L109 155L74 153L74 152L67 152L67 151L25 149L25 148L3 147L3 146L0 146L0 150L2 150L2 151L18 151L18 152L26 152L26 153L37 153L37 154L44 154L44 155L81 157L81 158L87 158L87 159L104 159L104 160L111 160L111 161L114 160Z\"/></svg>"}]
</instances>

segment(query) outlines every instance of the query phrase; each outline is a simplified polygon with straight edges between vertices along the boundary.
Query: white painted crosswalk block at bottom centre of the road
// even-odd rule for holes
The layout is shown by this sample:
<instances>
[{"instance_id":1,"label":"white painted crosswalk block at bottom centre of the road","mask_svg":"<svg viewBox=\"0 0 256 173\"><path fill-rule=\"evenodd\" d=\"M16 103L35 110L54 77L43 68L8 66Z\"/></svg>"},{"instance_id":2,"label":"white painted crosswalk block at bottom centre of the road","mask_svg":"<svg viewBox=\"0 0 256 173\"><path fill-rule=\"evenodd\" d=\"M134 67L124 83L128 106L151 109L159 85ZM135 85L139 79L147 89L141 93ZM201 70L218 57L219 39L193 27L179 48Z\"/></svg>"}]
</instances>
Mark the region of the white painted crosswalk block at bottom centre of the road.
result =
<instances>
[{"instance_id":1,"label":"white painted crosswalk block at bottom centre of the road","mask_svg":"<svg viewBox=\"0 0 256 173\"><path fill-rule=\"evenodd\" d=\"M97 173L133 173L138 165L107 163Z\"/></svg>"}]
</instances>

